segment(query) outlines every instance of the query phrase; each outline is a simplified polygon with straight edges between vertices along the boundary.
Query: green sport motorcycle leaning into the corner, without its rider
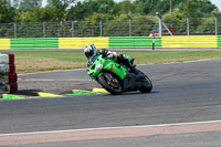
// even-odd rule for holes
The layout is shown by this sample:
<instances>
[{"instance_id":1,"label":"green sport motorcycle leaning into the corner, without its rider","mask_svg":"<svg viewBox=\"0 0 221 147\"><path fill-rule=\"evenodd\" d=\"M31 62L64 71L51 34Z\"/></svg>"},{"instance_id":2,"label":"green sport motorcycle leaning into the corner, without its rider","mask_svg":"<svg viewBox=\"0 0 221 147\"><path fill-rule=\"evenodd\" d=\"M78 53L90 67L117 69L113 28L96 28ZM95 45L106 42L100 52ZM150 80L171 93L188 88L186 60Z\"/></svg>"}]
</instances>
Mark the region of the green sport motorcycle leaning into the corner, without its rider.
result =
<instances>
[{"instance_id":1,"label":"green sport motorcycle leaning into the corner, without its rider","mask_svg":"<svg viewBox=\"0 0 221 147\"><path fill-rule=\"evenodd\" d=\"M102 54L91 56L88 66L90 77L98 82L110 94L119 95L131 91L149 93L152 90L151 81L147 75L139 80L129 67L115 60L105 59Z\"/></svg>"}]
</instances>

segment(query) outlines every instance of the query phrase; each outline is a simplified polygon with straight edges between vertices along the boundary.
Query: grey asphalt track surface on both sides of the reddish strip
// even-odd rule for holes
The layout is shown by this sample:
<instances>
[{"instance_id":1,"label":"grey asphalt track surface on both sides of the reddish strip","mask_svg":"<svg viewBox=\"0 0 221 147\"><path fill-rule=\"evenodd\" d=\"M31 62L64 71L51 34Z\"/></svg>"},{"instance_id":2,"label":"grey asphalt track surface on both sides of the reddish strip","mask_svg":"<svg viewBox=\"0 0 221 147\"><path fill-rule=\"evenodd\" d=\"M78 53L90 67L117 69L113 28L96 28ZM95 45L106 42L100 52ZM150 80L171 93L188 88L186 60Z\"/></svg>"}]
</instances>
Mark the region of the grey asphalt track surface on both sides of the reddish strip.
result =
<instances>
[{"instance_id":1,"label":"grey asphalt track surface on both sides of the reddish strip","mask_svg":"<svg viewBox=\"0 0 221 147\"><path fill-rule=\"evenodd\" d=\"M14 133L147 126L221 120L221 60L138 66L154 84L151 93L126 93L0 102L0 136ZM70 78L90 80L86 70ZM50 77L59 78L59 72ZM42 78L46 73L32 76ZM24 75L23 75L24 76ZM73 77L76 76L76 77ZM96 86L96 84L95 84ZM220 147L221 127L212 132L45 143L19 147ZM1 143L0 143L1 146ZM12 145L13 146L13 145ZM18 147L18 146L17 146Z\"/></svg>"}]
</instances>

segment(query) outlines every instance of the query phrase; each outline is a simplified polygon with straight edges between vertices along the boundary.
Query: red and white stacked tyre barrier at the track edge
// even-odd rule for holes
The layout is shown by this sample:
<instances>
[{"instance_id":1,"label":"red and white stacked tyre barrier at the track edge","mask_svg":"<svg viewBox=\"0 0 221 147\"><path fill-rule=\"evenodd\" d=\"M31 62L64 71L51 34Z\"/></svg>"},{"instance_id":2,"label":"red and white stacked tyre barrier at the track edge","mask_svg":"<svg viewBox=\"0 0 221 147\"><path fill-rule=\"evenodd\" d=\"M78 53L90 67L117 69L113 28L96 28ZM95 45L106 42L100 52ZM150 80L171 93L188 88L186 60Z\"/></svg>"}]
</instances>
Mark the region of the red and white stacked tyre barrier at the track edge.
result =
<instances>
[{"instance_id":1,"label":"red and white stacked tyre barrier at the track edge","mask_svg":"<svg viewBox=\"0 0 221 147\"><path fill-rule=\"evenodd\" d=\"M0 54L0 93L18 91L18 75L15 73L14 54Z\"/></svg>"}]
</instances>

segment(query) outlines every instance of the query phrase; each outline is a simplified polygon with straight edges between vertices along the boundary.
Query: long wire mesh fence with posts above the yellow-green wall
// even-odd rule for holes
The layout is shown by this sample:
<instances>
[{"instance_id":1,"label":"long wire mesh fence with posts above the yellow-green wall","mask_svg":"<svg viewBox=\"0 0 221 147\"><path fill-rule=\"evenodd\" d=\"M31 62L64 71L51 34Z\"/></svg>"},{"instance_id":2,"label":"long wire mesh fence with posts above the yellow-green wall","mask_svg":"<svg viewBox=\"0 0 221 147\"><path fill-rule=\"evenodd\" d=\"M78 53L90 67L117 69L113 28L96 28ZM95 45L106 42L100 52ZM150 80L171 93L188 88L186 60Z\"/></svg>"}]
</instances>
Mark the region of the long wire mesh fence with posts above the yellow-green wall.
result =
<instances>
[{"instance_id":1,"label":"long wire mesh fence with posts above the yellow-green wall","mask_svg":"<svg viewBox=\"0 0 221 147\"><path fill-rule=\"evenodd\" d=\"M165 25L162 25L165 24ZM88 38L148 36L155 30L159 36L169 35L165 28L175 28L172 35L219 35L221 18L151 18L144 20L98 20L66 22L0 23L0 39L13 38ZM162 32L159 31L162 30Z\"/></svg>"}]
</instances>

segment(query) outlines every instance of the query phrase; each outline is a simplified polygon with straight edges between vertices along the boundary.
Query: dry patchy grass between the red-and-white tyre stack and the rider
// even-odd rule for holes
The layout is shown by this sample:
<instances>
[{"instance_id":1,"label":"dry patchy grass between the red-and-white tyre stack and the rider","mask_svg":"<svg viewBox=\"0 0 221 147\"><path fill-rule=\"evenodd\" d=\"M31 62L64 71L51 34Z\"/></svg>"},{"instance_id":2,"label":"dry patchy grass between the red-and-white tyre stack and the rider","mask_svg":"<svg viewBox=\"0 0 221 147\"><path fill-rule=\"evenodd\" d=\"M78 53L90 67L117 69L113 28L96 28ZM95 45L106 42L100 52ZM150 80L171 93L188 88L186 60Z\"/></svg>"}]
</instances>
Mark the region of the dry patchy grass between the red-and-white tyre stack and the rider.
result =
<instances>
[{"instance_id":1,"label":"dry patchy grass between the red-and-white tyre stack and the rider","mask_svg":"<svg viewBox=\"0 0 221 147\"><path fill-rule=\"evenodd\" d=\"M86 67L82 52L14 52L18 73Z\"/></svg>"}]
</instances>

